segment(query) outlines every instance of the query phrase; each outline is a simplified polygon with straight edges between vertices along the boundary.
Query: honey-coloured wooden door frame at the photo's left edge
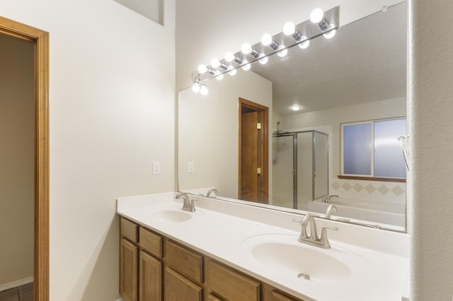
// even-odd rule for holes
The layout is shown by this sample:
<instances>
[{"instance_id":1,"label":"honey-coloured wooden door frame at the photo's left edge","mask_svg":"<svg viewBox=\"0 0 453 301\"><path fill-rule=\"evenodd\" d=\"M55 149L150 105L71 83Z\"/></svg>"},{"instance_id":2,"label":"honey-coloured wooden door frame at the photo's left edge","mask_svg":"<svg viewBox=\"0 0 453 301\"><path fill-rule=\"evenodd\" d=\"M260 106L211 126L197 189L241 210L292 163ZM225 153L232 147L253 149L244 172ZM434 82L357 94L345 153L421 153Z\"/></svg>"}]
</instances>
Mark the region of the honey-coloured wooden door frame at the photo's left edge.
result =
<instances>
[{"instance_id":1,"label":"honey-coloured wooden door frame at the photo's left edge","mask_svg":"<svg viewBox=\"0 0 453 301\"><path fill-rule=\"evenodd\" d=\"M49 300L49 33L0 17L0 34L35 45L33 299Z\"/></svg>"}]
</instances>

